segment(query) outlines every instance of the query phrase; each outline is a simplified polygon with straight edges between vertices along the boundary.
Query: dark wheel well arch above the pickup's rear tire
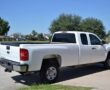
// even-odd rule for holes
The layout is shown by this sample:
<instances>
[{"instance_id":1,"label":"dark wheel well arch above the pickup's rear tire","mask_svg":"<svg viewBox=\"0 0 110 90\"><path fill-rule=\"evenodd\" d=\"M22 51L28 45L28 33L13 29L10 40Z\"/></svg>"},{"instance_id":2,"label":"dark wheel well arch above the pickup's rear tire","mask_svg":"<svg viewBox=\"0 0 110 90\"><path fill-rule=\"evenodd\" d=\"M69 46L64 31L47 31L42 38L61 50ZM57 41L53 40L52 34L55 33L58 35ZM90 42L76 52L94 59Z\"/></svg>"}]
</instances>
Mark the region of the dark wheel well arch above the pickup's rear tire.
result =
<instances>
[{"instance_id":1,"label":"dark wheel well arch above the pickup's rear tire","mask_svg":"<svg viewBox=\"0 0 110 90\"><path fill-rule=\"evenodd\" d=\"M42 66L44 64L48 64L49 62L55 62L60 67L61 66L61 56L60 55L46 55L46 56L44 56L43 61L42 61Z\"/></svg>"}]
</instances>

